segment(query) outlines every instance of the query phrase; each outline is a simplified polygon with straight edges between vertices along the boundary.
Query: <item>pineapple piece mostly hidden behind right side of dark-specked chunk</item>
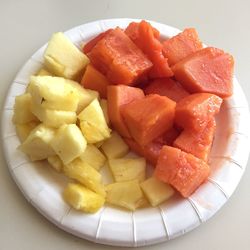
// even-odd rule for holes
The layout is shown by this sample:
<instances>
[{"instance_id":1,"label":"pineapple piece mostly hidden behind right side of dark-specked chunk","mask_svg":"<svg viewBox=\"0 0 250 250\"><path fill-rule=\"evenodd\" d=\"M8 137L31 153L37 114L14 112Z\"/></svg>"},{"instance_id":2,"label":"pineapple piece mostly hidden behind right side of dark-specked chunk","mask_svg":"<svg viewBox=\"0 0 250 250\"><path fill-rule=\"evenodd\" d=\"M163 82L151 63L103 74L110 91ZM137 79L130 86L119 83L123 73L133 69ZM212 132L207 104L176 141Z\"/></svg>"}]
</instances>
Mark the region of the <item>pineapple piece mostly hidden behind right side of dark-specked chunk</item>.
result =
<instances>
[{"instance_id":1,"label":"pineapple piece mostly hidden behind right side of dark-specked chunk","mask_svg":"<svg viewBox=\"0 0 250 250\"><path fill-rule=\"evenodd\" d=\"M79 102L76 113L79 114L84 108L86 108L95 98L99 98L99 93L91 89L85 89L78 82L70 81L69 83L78 93Z\"/></svg>"}]
</instances>

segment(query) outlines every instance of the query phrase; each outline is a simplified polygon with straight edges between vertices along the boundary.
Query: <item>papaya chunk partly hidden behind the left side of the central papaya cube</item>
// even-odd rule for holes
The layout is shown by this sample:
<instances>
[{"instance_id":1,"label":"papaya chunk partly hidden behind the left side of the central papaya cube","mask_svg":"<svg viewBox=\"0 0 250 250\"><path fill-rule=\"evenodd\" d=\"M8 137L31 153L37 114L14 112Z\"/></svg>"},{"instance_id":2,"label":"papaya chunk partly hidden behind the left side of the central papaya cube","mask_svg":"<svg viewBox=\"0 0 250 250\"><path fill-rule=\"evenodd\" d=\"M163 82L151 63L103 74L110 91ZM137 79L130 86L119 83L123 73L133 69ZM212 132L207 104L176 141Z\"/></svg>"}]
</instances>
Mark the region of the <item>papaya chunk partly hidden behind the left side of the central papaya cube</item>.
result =
<instances>
[{"instance_id":1,"label":"papaya chunk partly hidden behind the left side of the central papaya cube","mask_svg":"<svg viewBox=\"0 0 250 250\"><path fill-rule=\"evenodd\" d=\"M144 98L141 89L126 85L109 85L107 88L108 115L112 126L123 137L131 138L121 115L121 107Z\"/></svg>"}]
</instances>

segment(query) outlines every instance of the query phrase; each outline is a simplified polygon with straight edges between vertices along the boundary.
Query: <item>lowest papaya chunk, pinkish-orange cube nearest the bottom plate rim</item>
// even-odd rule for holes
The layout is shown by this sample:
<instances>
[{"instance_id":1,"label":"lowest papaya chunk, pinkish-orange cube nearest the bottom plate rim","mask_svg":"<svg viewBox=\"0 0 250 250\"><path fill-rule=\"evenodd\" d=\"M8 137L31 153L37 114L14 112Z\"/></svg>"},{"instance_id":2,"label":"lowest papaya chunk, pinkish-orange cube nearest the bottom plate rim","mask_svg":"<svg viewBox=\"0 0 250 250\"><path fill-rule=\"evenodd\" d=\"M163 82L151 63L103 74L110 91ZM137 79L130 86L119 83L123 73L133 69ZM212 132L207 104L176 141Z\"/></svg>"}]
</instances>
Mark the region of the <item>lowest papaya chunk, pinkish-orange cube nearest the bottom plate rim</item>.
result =
<instances>
[{"instance_id":1,"label":"lowest papaya chunk, pinkish-orange cube nearest the bottom plate rim","mask_svg":"<svg viewBox=\"0 0 250 250\"><path fill-rule=\"evenodd\" d=\"M164 146L154 171L159 180L189 197L209 176L210 167L201 159L180 149Z\"/></svg>"}]
</instances>

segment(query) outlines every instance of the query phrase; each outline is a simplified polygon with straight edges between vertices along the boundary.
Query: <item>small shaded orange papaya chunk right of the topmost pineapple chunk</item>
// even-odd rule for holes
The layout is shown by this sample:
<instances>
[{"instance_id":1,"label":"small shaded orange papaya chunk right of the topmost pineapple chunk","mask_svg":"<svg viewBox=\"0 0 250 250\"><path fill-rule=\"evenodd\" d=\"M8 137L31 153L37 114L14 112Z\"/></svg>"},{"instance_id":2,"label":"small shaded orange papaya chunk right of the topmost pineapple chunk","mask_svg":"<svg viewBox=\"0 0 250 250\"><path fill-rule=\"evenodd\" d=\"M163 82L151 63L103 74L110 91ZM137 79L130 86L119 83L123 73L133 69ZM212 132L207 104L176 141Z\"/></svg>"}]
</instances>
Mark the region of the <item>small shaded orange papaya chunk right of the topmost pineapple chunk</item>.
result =
<instances>
[{"instance_id":1,"label":"small shaded orange papaya chunk right of the topmost pineapple chunk","mask_svg":"<svg viewBox=\"0 0 250 250\"><path fill-rule=\"evenodd\" d=\"M95 69L91 64L88 64L81 84L86 89L98 91L101 98L107 98L107 86L111 83L101 72Z\"/></svg>"}]
</instances>

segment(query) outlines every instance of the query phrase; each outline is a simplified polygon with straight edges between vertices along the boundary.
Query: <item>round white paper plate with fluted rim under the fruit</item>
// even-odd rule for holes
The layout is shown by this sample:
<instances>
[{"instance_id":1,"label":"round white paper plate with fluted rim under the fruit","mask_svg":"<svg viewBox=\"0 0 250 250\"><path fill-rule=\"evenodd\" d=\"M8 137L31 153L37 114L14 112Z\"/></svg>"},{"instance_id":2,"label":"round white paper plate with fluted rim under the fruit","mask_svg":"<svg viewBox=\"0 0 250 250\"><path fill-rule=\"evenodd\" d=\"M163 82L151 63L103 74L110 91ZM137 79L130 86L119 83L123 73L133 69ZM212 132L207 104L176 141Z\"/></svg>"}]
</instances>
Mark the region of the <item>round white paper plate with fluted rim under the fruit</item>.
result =
<instances>
[{"instance_id":1,"label":"round white paper plate with fluted rim under the fruit","mask_svg":"<svg viewBox=\"0 0 250 250\"><path fill-rule=\"evenodd\" d=\"M83 24L65 34L78 47L98 33L116 26L126 27L132 19L110 19ZM152 22L166 37L179 30ZM213 216L237 187L249 155L249 110L242 89L234 78L234 95L227 99L217 117L211 152L212 173L188 199L175 195L156 208L127 212L105 206L96 214L71 209L62 199L66 178L46 163L33 163L18 151L20 144L11 122L14 98L24 92L29 76L43 66L39 49L17 74L10 86L2 114L2 140L10 173L26 199L48 220L81 238L108 245L143 246L163 242L192 230Z\"/></svg>"}]
</instances>

